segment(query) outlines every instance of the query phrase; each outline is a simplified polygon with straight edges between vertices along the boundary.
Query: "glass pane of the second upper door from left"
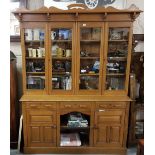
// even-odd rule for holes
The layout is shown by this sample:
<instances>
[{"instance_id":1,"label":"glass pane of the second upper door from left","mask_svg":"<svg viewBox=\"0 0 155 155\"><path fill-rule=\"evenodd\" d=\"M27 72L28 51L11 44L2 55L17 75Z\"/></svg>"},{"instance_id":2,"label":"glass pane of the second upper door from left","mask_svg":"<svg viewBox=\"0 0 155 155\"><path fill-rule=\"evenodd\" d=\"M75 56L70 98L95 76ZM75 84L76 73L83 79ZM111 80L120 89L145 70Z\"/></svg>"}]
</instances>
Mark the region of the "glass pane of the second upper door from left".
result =
<instances>
[{"instance_id":1,"label":"glass pane of the second upper door from left","mask_svg":"<svg viewBox=\"0 0 155 155\"><path fill-rule=\"evenodd\" d=\"M72 89L72 30L51 29L52 89Z\"/></svg>"}]
</instances>

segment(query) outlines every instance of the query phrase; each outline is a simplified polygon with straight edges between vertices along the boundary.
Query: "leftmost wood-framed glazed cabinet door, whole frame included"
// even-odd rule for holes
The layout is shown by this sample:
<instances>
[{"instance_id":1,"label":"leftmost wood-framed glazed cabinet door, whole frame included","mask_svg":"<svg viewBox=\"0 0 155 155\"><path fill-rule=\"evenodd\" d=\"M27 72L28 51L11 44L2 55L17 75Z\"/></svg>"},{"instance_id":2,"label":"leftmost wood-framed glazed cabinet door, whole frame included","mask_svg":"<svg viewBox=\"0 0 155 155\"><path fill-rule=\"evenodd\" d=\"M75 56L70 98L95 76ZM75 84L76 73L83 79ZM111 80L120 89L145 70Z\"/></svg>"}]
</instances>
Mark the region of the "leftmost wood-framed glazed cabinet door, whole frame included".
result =
<instances>
[{"instance_id":1,"label":"leftmost wood-framed glazed cabinet door, whole frame included","mask_svg":"<svg viewBox=\"0 0 155 155\"><path fill-rule=\"evenodd\" d=\"M22 23L21 44L24 93L47 93L47 24Z\"/></svg>"}]
</instances>

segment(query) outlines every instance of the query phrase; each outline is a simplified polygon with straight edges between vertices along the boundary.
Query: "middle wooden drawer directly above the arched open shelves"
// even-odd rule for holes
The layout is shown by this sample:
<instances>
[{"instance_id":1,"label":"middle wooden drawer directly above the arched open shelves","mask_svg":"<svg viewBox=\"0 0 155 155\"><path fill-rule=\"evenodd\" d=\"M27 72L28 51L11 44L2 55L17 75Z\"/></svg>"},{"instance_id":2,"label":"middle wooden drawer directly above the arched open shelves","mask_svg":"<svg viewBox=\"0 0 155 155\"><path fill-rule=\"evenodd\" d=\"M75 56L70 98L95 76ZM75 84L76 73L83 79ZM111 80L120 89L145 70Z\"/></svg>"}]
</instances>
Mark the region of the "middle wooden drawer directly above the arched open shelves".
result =
<instances>
[{"instance_id":1,"label":"middle wooden drawer directly above the arched open shelves","mask_svg":"<svg viewBox=\"0 0 155 155\"><path fill-rule=\"evenodd\" d=\"M61 102L60 103L60 109L67 109L67 108L73 108L73 109L83 109L88 110L91 108L90 102Z\"/></svg>"}]
</instances>

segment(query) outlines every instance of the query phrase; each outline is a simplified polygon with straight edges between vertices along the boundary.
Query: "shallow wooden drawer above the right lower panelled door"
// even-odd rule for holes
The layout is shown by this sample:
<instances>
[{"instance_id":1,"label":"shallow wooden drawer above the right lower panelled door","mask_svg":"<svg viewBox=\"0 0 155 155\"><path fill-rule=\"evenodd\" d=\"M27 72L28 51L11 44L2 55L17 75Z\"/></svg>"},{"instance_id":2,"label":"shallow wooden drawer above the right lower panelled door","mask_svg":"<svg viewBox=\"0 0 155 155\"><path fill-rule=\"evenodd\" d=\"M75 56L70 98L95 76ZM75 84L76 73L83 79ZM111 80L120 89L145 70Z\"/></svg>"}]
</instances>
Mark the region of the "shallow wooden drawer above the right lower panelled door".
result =
<instances>
[{"instance_id":1,"label":"shallow wooden drawer above the right lower panelled door","mask_svg":"<svg viewBox=\"0 0 155 155\"><path fill-rule=\"evenodd\" d=\"M126 102L96 102L96 108L125 108Z\"/></svg>"}]
</instances>

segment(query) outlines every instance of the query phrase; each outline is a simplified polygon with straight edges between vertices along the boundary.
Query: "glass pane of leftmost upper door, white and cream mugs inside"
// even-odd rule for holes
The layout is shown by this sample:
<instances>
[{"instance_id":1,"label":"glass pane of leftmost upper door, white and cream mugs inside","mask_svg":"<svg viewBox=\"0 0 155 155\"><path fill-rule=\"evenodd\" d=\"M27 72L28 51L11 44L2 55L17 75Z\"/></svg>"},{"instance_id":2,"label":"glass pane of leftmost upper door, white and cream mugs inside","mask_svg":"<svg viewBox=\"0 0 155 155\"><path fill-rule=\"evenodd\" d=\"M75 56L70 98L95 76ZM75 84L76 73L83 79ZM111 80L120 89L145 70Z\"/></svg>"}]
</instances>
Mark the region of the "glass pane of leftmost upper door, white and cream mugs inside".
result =
<instances>
[{"instance_id":1,"label":"glass pane of leftmost upper door, white and cream mugs inside","mask_svg":"<svg viewBox=\"0 0 155 155\"><path fill-rule=\"evenodd\" d=\"M25 29L27 89L45 89L44 29Z\"/></svg>"}]
</instances>

